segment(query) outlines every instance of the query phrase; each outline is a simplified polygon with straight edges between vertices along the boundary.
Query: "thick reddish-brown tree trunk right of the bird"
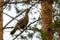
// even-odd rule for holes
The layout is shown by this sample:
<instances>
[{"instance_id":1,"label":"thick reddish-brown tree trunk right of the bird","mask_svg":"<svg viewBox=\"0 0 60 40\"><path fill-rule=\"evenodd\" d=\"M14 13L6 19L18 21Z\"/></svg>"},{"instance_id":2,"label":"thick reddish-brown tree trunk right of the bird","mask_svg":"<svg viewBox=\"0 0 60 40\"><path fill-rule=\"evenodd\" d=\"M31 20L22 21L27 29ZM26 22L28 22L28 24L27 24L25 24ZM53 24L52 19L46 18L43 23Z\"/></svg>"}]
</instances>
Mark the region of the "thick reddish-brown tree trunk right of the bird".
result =
<instances>
[{"instance_id":1,"label":"thick reddish-brown tree trunk right of the bird","mask_svg":"<svg viewBox=\"0 0 60 40\"><path fill-rule=\"evenodd\" d=\"M51 0L41 1L42 29L46 32L46 40L53 40Z\"/></svg>"}]
</instances>

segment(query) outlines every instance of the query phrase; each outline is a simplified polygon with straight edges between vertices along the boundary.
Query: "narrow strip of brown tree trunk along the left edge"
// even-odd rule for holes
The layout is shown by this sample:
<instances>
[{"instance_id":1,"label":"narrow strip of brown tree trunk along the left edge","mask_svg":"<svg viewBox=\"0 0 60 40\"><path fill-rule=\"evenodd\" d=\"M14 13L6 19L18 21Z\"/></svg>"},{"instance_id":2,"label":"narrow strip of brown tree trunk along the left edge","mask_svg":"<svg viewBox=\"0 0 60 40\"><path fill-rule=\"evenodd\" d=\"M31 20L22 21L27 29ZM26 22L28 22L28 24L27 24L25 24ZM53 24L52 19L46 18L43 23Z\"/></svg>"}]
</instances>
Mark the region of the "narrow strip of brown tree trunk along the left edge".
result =
<instances>
[{"instance_id":1,"label":"narrow strip of brown tree trunk along the left edge","mask_svg":"<svg viewBox=\"0 0 60 40\"><path fill-rule=\"evenodd\" d=\"M0 0L0 40L3 40L3 0Z\"/></svg>"}]
</instances>

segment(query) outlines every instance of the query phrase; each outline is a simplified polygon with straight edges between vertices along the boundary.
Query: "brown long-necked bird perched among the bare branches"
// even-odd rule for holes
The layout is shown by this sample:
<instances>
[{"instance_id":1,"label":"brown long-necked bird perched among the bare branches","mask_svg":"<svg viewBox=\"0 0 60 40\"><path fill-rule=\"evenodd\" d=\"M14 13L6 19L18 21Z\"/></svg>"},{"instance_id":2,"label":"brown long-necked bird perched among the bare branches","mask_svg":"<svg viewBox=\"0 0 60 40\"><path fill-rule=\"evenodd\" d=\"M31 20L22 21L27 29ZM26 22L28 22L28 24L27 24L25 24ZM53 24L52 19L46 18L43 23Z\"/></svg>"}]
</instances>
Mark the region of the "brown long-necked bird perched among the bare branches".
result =
<instances>
[{"instance_id":1,"label":"brown long-necked bird perched among the bare branches","mask_svg":"<svg viewBox=\"0 0 60 40\"><path fill-rule=\"evenodd\" d=\"M15 25L14 29L10 32L11 35L13 35L16 30L18 29L24 29L28 22L29 22L29 16L28 16L28 13L29 13L29 9L26 9L26 14L24 16L24 18L20 19L17 24Z\"/></svg>"}]
</instances>

